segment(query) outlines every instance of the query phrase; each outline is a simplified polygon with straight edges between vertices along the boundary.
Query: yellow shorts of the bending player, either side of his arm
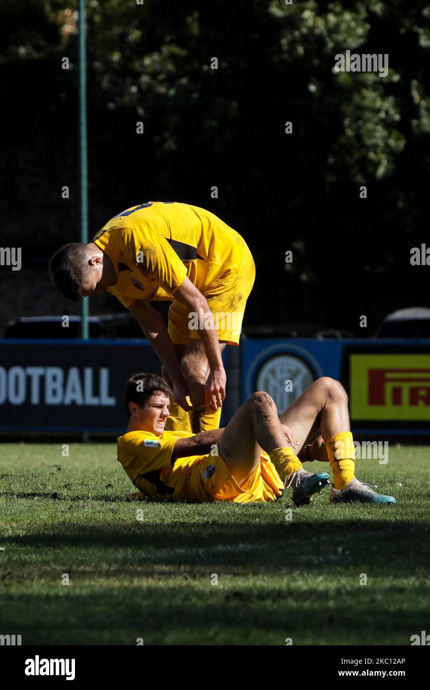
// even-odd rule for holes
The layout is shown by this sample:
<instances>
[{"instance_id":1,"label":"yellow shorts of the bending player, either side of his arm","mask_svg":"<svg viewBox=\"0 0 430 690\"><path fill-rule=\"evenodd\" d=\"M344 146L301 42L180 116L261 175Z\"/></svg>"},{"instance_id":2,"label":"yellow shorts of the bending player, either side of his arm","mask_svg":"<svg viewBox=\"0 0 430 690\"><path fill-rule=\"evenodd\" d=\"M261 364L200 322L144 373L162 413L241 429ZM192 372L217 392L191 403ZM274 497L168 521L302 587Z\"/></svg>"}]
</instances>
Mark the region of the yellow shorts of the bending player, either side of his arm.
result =
<instances>
[{"instance_id":1,"label":"yellow shorts of the bending player, either side of his arm","mask_svg":"<svg viewBox=\"0 0 430 690\"><path fill-rule=\"evenodd\" d=\"M210 269L209 269L210 270ZM219 267L217 267L219 273ZM238 345L242 331L242 319L246 300L255 281L255 264L246 244L243 246L240 266L226 268L222 275L204 290L208 306L213 315L213 324L218 340L230 345ZM203 315L190 318L188 307L173 300L168 312L168 334L175 345L187 345L189 339L199 339L197 328L204 326Z\"/></svg>"}]
</instances>

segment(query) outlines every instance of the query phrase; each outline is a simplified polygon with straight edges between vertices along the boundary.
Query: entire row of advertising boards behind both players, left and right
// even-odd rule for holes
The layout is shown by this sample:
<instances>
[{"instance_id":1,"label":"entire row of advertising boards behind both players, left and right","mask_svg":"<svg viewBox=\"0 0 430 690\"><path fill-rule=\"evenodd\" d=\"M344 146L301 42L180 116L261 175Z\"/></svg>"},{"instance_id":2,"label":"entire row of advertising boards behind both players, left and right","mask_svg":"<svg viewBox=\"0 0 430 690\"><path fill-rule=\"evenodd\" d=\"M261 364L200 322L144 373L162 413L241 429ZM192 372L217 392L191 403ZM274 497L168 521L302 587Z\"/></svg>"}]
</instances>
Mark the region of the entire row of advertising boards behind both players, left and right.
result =
<instances>
[{"instance_id":1,"label":"entire row of advertising boards behind both players, left and right","mask_svg":"<svg viewBox=\"0 0 430 690\"><path fill-rule=\"evenodd\" d=\"M430 340L244 338L223 359L222 426L254 391L282 413L330 376L349 395L355 433L430 434ZM124 385L137 371L161 371L144 339L0 340L0 433L122 433Z\"/></svg>"}]
</instances>

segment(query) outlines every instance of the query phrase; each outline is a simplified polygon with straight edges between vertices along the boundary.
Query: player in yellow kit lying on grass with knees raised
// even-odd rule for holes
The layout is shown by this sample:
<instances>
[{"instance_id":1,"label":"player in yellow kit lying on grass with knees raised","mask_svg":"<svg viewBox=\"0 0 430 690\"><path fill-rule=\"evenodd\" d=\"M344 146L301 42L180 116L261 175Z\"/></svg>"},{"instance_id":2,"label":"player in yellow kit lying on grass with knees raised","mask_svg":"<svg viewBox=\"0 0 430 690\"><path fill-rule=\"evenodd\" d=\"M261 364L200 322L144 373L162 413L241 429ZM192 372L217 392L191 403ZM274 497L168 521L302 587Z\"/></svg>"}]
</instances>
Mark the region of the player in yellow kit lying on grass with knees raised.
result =
<instances>
[{"instance_id":1,"label":"player in yellow kit lying on grass with knees raised","mask_svg":"<svg viewBox=\"0 0 430 690\"><path fill-rule=\"evenodd\" d=\"M270 395L254 393L225 428L198 434L165 431L169 395L157 375L135 374L126 384L128 429L118 439L118 460L139 489L127 497L266 502L291 486L295 505L309 504L329 475L304 470L297 453L319 428L333 470L332 502L395 503L354 477L348 398L338 381L318 379L280 417Z\"/></svg>"}]
</instances>

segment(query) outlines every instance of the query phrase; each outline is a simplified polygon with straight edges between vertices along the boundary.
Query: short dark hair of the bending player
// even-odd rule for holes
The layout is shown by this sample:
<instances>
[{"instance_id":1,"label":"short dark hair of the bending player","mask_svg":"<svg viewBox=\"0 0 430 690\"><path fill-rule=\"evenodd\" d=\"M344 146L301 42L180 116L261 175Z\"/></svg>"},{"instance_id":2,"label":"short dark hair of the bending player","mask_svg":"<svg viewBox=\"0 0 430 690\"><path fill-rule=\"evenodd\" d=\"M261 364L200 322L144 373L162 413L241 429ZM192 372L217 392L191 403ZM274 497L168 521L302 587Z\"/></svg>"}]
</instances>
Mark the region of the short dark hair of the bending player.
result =
<instances>
[{"instance_id":1,"label":"short dark hair of the bending player","mask_svg":"<svg viewBox=\"0 0 430 690\"><path fill-rule=\"evenodd\" d=\"M90 274L88 245L79 242L65 244L52 255L49 272L59 293L70 302L79 302L81 287Z\"/></svg>"}]
</instances>

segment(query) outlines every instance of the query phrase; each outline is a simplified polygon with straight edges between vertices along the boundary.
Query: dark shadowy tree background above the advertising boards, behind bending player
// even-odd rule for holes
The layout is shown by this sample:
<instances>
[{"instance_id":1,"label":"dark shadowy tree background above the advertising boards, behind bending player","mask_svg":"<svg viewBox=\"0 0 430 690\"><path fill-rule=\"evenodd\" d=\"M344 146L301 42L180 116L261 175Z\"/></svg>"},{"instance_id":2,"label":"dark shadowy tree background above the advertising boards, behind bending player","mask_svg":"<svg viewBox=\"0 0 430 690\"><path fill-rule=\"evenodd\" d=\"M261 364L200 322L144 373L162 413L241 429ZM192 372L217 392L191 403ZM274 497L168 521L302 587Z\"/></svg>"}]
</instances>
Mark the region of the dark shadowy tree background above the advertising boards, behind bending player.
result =
<instances>
[{"instance_id":1,"label":"dark shadowy tree background above the advertising boards, behind bending player","mask_svg":"<svg viewBox=\"0 0 430 690\"><path fill-rule=\"evenodd\" d=\"M293 1L87 1L90 237L144 201L202 206L255 258L245 333L369 337L390 311L429 306L410 249L430 244L430 10ZM389 77L336 74L346 49L388 53ZM2 0L0 83L0 246L23 252L21 271L0 267L1 335L18 316L79 313L47 270L80 237L75 2ZM115 311L91 299L91 314Z\"/></svg>"}]
</instances>

